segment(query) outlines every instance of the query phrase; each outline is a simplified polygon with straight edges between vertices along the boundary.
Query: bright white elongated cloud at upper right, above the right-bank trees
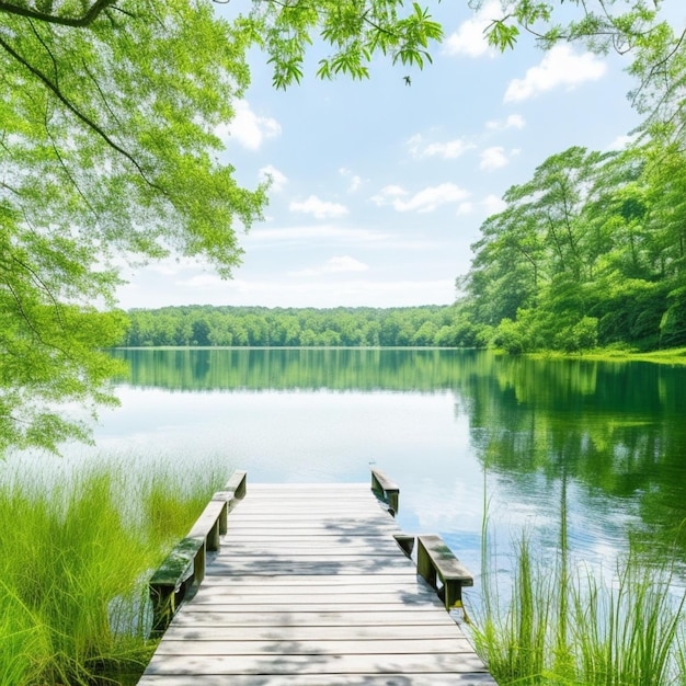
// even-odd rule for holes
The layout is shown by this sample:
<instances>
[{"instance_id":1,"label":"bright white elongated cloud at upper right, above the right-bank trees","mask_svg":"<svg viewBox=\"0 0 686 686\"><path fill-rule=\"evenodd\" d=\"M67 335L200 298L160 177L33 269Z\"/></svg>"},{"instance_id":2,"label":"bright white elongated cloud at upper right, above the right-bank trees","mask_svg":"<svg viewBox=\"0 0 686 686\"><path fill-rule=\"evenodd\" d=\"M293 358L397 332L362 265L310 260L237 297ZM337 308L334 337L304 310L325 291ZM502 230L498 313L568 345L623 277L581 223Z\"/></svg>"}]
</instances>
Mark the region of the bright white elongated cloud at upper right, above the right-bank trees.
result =
<instances>
[{"instance_id":1,"label":"bright white elongated cloud at upper right, above the right-bank trees","mask_svg":"<svg viewBox=\"0 0 686 686\"><path fill-rule=\"evenodd\" d=\"M514 79L505 91L505 102L521 102L558 87L572 90L586 81L597 81L607 65L592 53L575 54L569 45L556 45L540 65L527 69L524 79Z\"/></svg>"}]
</instances>

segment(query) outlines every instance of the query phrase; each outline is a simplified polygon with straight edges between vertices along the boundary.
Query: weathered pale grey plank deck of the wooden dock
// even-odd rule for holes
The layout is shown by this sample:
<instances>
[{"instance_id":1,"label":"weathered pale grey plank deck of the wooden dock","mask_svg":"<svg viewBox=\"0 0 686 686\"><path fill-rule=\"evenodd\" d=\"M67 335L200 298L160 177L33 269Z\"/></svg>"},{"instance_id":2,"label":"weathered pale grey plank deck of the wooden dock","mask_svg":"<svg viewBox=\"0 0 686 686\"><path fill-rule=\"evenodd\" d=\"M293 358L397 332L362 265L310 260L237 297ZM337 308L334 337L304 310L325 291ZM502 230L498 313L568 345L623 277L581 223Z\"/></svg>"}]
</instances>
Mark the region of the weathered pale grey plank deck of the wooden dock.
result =
<instances>
[{"instance_id":1,"label":"weathered pale grey plank deck of the wooden dock","mask_svg":"<svg viewBox=\"0 0 686 686\"><path fill-rule=\"evenodd\" d=\"M231 494L141 686L495 685L368 484Z\"/></svg>"}]
</instances>

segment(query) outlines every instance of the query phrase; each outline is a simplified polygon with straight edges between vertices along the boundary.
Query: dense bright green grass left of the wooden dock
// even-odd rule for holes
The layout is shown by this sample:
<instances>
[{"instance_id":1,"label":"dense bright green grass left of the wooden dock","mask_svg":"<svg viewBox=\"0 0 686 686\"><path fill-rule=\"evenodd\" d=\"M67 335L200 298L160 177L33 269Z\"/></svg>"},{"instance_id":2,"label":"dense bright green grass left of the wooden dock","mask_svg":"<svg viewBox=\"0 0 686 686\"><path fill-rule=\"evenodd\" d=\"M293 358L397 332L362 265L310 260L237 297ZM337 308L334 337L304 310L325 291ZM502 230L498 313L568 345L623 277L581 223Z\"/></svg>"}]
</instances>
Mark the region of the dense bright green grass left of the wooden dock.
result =
<instances>
[{"instance_id":1,"label":"dense bright green grass left of the wooden dock","mask_svg":"<svg viewBox=\"0 0 686 686\"><path fill-rule=\"evenodd\" d=\"M126 683L155 643L147 579L227 473L93 466L0 484L0 684Z\"/></svg>"}]
</instances>

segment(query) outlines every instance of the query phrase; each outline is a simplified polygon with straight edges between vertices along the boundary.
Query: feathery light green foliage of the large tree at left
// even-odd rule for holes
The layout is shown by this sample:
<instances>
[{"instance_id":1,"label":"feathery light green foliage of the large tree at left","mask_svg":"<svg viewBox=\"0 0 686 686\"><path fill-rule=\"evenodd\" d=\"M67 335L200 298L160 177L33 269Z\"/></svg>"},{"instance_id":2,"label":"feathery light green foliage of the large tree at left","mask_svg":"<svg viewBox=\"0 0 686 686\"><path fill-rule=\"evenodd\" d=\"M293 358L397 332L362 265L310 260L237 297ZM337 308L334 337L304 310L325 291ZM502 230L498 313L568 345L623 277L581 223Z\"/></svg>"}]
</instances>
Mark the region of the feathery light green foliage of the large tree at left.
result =
<instances>
[{"instance_id":1,"label":"feathery light green foliage of the large tree at left","mask_svg":"<svg viewBox=\"0 0 686 686\"><path fill-rule=\"evenodd\" d=\"M125 319L93 304L112 305L116 255L173 249L228 275L232 227L265 201L217 159L217 127L248 83L241 34L208 3L95 4L88 28L0 12L0 454L87 438L96 404L112 401L117 368L98 351ZM60 401L90 414L56 414Z\"/></svg>"}]
</instances>

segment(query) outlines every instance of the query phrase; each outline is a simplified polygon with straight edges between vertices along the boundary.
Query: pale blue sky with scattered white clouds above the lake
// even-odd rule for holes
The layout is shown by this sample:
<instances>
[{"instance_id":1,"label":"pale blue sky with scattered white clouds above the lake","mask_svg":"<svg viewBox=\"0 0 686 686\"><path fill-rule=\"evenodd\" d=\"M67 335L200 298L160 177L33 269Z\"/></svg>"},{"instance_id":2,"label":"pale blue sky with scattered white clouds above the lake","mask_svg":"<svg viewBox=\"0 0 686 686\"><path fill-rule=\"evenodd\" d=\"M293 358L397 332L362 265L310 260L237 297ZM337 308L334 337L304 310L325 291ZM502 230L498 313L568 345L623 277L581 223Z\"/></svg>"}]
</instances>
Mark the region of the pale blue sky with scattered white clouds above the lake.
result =
<instances>
[{"instance_id":1,"label":"pale blue sky with scattered white clouds above the lake","mask_svg":"<svg viewBox=\"0 0 686 686\"><path fill-rule=\"evenodd\" d=\"M482 34L500 2L430 4L445 39L423 70L378 59L368 81L321 81L313 54L301 83L276 91L252 55L221 132L241 184L272 179L264 221L240 232L242 264L230 281L186 259L126 268L119 306L448 305L507 188L572 146L618 149L641 122L627 58L526 38L501 54ZM686 23L683 0L664 8Z\"/></svg>"}]
</instances>

